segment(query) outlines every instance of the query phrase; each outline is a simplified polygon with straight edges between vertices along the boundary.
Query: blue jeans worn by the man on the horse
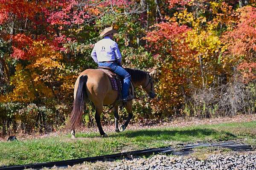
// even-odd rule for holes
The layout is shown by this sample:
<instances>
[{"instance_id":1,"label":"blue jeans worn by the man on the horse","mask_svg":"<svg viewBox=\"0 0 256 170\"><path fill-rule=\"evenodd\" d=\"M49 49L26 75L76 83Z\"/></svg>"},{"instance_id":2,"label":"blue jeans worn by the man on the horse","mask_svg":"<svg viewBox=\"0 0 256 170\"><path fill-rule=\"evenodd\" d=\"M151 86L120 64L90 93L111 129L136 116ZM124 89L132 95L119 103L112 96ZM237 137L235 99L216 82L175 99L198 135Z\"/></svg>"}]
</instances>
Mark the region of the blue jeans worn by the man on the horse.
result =
<instances>
[{"instance_id":1,"label":"blue jeans worn by the man on the horse","mask_svg":"<svg viewBox=\"0 0 256 170\"><path fill-rule=\"evenodd\" d=\"M130 82L131 82L131 75L116 62L99 62L98 65L110 67L116 74L118 74L120 77L123 78L122 99L127 98L128 92L129 92L129 87L130 87Z\"/></svg>"}]
</instances>

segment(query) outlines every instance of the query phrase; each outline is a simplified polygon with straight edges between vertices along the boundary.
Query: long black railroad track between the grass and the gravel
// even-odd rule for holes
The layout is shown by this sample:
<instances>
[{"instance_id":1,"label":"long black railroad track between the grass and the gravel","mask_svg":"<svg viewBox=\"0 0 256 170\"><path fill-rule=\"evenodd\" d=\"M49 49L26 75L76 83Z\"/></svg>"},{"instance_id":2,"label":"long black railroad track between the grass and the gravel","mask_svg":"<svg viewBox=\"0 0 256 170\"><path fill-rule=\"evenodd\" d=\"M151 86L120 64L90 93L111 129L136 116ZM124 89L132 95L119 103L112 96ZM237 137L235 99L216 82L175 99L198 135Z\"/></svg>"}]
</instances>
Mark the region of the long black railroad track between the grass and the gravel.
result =
<instances>
[{"instance_id":1,"label":"long black railroad track between the grass and the gravel","mask_svg":"<svg viewBox=\"0 0 256 170\"><path fill-rule=\"evenodd\" d=\"M87 158L81 158L81 159L54 161L54 162L46 162L46 163L38 163L38 164L24 164L24 165L10 166L10 167L0 167L0 170L23 170L26 168L41 169L43 167L51 168L53 166L67 167L68 165L73 166L75 164L82 164L84 162L114 161L116 159L132 158L135 156L148 156L153 153L154 154L166 153L166 154L172 154L172 155L186 155L186 154L192 153L193 152L192 149L196 147L223 147L223 148L229 148L234 151L253 150L253 147L251 145L237 143L237 142L197 143L197 144L183 145L177 149L174 149L172 147L159 147L159 148L137 150L137 151L131 151L131 152L116 153L116 154L104 155L104 156L87 157Z\"/></svg>"}]
</instances>

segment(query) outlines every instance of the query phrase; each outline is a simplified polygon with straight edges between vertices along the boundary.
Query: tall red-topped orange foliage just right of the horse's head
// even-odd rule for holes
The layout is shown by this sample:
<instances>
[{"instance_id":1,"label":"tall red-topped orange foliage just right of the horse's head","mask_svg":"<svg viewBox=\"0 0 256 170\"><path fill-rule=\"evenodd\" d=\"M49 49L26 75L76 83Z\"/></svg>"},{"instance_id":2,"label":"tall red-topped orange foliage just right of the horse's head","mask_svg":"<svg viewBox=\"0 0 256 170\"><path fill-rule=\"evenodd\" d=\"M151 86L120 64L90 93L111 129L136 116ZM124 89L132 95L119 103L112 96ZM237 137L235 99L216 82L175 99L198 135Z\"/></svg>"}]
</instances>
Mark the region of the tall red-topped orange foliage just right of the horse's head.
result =
<instances>
[{"instance_id":1,"label":"tall red-topped orange foliage just right of the horse's head","mask_svg":"<svg viewBox=\"0 0 256 170\"><path fill-rule=\"evenodd\" d=\"M155 30L147 33L148 48L160 60L161 75L158 77L160 86L157 94L161 99L157 101L157 108L166 110L173 105L183 103L183 94L189 93L187 77L191 76L190 68L195 68L193 51L186 44L187 26L177 23L160 23ZM194 73L196 75L196 73Z\"/></svg>"}]
</instances>

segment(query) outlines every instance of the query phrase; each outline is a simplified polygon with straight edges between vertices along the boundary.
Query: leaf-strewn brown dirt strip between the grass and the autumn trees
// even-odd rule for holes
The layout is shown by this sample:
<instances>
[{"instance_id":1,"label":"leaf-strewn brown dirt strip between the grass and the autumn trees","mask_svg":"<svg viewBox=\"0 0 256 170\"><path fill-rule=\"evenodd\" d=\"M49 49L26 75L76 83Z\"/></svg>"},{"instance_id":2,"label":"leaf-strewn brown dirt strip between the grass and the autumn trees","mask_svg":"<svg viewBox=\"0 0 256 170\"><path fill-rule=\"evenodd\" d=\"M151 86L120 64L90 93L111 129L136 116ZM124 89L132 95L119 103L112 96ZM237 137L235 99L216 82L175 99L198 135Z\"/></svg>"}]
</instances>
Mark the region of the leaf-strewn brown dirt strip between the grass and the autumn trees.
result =
<instances>
[{"instance_id":1,"label":"leaf-strewn brown dirt strip between the grass and the autumn trees","mask_svg":"<svg viewBox=\"0 0 256 170\"><path fill-rule=\"evenodd\" d=\"M213 124L219 124L219 123L230 123L230 122L250 122L250 121L256 121L256 114L250 114L250 115L236 115L232 117L218 117L218 118L211 118L211 119L198 119L198 118L175 118L170 122L164 122L159 121L159 123L148 123L147 120L143 120L141 123L134 123L131 125L128 125L126 128L127 130L139 130L139 129L148 129L148 128L157 128L157 127L186 127L186 126L192 126L192 125L213 125ZM120 126L121 124L119 124ZM103 130L106 133L109 132L115 132L115 127L113 125L104 125ZM80 127L76 130L76 132L99 132L98 128L96 126L87 128L87 127ZM47 134L13 134L17 137L19 140L29 140L29 139L40 139L48 136L58 136L61 134L66 134L67 130L59 130L58 132L54 133L47 133ZM8 136L1 138L0 141L6 141Z\"/></svg>"}]
</instances>

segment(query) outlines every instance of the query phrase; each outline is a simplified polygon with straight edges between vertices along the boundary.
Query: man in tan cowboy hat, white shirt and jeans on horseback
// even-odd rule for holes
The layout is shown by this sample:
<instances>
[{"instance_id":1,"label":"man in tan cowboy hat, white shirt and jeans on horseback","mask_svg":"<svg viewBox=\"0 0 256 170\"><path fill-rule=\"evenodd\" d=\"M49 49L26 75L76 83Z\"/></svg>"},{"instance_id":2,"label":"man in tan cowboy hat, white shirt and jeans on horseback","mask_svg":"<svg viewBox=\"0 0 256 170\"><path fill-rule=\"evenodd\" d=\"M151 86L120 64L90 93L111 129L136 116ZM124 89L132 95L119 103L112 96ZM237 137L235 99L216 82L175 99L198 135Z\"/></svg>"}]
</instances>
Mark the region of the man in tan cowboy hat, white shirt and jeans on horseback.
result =
<instances>
[{"instance_id":1,"label":"man in tan cowboy hat, white shirt and jeans on horseback","mask_svg":"<svg viewBox=\"0 0 256 170\"><path fill-rule=\"evenodd\" d=\"M131 75L122 68L122 55L117 43L113 41L114 33L118 33L118 31L112 27L105 28L100 33L100 37L104 38L94 45L91 57L99 66L109 67L114 73L123 78L122 102L127 102L131 100L131 97L128 95Z\"/></svg>"}]
</instances>

